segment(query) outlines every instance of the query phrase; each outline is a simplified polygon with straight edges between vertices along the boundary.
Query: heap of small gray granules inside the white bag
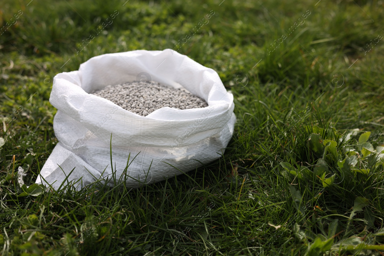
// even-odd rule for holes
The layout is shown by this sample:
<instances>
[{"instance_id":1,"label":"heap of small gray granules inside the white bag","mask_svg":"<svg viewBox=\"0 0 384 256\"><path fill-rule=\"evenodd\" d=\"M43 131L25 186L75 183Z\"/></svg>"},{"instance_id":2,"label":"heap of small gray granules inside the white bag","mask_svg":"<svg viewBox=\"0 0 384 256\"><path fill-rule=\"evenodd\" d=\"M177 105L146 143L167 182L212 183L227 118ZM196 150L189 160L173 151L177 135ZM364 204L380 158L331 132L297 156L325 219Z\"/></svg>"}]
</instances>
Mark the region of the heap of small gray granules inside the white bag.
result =
<instances>
[{"instance_id":1,"label":"heap of small gray granules inside the white bag","mask_svg":"<svg viewBox=\"0 0 384 256\"><path fill-rule=\"evenodd\" d=\"M108 99L123 109L140 116L147 116L162 107L194 109L208 106L204 99L189 92L169 88L154 81L152 83L132 82L108 85L92 94Z\"/></svg>"}]
</instances>

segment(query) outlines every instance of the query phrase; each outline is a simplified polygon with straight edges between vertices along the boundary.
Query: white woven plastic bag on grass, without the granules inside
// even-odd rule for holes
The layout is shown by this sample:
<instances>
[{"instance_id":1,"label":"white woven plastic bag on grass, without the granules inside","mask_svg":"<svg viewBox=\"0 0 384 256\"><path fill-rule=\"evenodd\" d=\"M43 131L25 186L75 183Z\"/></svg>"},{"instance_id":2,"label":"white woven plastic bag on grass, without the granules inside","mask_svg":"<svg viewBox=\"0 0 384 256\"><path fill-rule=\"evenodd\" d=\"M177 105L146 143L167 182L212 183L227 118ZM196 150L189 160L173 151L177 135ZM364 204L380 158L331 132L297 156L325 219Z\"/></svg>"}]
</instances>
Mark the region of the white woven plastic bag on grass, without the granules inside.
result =
<instances>
[{"instance_id":1,"label":"white woven plastic bag on grass, without the granules inside","mask_svg":"<svg viewBox=\"0 0 384 256\"><path fill-rule=\"evenodd\" d=\"M107 85L144 78L185 88L209 106L162 107L139 116L91 94ZM219 158L236 121L233 96L218 74L170 49L93 57L78 71L55 76L50 102L58 109L53 129L59 143L36 183L55 189L63 182L74 183L75 189L96 180L114 185L113 176L126 180L127 187L139 187L182 174L199 167L200 162Z\"/></svg>"}]
</instances>

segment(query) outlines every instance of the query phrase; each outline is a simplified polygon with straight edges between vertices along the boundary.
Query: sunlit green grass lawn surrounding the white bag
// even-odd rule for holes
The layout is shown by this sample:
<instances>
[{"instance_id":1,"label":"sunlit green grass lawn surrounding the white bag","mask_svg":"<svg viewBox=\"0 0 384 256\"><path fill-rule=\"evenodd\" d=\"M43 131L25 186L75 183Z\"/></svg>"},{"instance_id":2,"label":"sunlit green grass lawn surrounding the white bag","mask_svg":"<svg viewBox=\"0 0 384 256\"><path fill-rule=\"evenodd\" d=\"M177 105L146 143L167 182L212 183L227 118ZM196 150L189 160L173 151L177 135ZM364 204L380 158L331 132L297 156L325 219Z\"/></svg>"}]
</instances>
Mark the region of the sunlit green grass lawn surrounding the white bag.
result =
<instances>
[{"instance_id":1,"label":"sunlit green grass lawn surrounding the white bag","mask_svg":"<svg viewBox=\"0 0 384 256\"><path fill-rule=\"evenodd\" d=\"M356 146L366 131L375 149L384 144L383 40L364 53L384 35L382 1L124 2L0 0L1 27L23 12L0 35L0 254L382 255L384 169ZM211 10L179 53L215 69L233 93L237 123L223 157L138 189L17 197L7 173L29 164L30 185L58 142L48 101L55 74L104 53L177 50ZM354 144L356 166L370 173L328 187L321 177L299 178L323 157L308 141L316 126L334 140L332 127L343 136L360 129L335 150L344 159L344 145ZM327 161L327 173L344 177L337 160Z\"/></svg>"}]
</instances>

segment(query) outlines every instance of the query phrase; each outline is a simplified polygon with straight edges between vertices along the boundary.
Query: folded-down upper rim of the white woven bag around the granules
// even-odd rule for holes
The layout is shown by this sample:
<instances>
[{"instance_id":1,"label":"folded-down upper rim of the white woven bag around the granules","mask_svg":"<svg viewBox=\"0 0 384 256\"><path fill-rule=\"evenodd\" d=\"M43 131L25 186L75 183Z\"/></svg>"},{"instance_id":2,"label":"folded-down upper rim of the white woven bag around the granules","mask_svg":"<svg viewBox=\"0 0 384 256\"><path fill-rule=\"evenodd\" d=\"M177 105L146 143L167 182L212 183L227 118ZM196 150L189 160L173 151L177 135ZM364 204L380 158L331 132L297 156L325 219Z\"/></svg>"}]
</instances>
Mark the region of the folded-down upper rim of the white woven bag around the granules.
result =
<instances>
[{"instance_id":1,"label":"folded-down upper rim of the white woven bag around the granules","mask_svg":"<svg viewBox=\"0 0 384 256\"><path fill-rule=\"evenodd\" d=\"M180 72L183 71L185 74L185 70L190 67L190 74L197 72L201 75L200 79L207 78L207 81L200 81L200 84L197 84L196 87L205 86L205 89L210 89L205 95L202 95L203 92L200 90L200 97L205 96L209 106L184 110L163 107L143 117L122 109L108 99L89 94L82 88L83 86L88 87L87 90L89 91L89 83L94 81L94 78L88 78L87 80L87 76L89 77L89 74L92 73L95 74L95 69L97 71L103 69L103 63L104 65L110 65L114 61L126 64L131 62L128 65L136 67L133 62L137 61L135 58L138 58L138 56L144 57L140 59L141 63L138 64L135 72L142 70L140 65L151 57L157 57L158 59L174 58L174 63L168 63L165 69L156 71L157 73L154 73L153 76L155 78L158 77L159 73L165 72L164 70L166 69L168 73L165 74L170 74L172 73L172 68ZM103 61L104 59L109 61ZM180 66L183 63L186 67ZM172 64L179 66L172 66ZM156 69L154 66L152 68ZM151 69L148 70L151 71ZM105 73L108 73L108 70ZM108 79L108 74L97 72L97 75L106 75L107 78L104 78L104 80ZM132 73L129 75L131 78L134 77ZM158 80L163 81L163 83L165 81L168 85L174 86L183 79L177 78L177 76L182 77L183 74L172 73L169 76L170 78L164 76ZM121 79L127 79L127 76ZM210 84L207 85L207 83ZM194 91L193 84L187 85L189 91ZM99 88L100 84L96 84L95 87ZM195 89L195 91L198 90L199 88ZM217 94L219 94L220 98L217 97ZM126 144L127 140L130 140L131 142L128 142L128 144L132 145L156 145L146 141L145 138L140 138L148 133L157 135L160 141L167 141L166 143L160 143L158 146L177 147L193 144L220 132L231 118L234 108L232 94L226 91L220 77L213 69L206 68L185 55L176 52L171 53L169 49L163 51L135 50L124 53L109 53L90 58L80 65L78 71L60 73L55 76L50 102L74 120L81 122L84 127L98 137L100 136L104 140L108 139L109 141L111 133L114 134L116 139L113 140L113 144L118 146ZM172 129L175 126L179 129ZM126 130L122 131L121 127L126 127ZM186 135L189 137L188 139L185 139Z\"/></svg>"}]
</instances>

